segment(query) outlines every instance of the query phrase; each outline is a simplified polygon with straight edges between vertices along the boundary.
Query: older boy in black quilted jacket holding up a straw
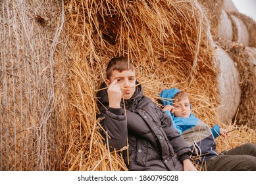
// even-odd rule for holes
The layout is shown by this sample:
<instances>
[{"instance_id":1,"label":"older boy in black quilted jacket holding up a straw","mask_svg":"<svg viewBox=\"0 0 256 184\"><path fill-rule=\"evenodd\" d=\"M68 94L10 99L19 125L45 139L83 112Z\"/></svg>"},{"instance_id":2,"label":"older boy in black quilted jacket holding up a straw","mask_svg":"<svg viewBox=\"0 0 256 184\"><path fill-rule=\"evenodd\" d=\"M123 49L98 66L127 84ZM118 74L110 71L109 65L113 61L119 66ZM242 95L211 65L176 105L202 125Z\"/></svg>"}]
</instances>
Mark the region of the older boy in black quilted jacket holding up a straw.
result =
<instances>
[{"instance_id":1,"label":"older boy in black quilted jacket holding up a straw","mask_svg":"<svg viewBox=\"0 0 256 184\"><path fill-rule=\"evenodd\" d=\"M170 118L143 96L128 58L111 59L101 89L97 115L103 118L103 137L111 150L128 148L123 157L129 170L196 170Z\"/></svg>"}]
</instances>

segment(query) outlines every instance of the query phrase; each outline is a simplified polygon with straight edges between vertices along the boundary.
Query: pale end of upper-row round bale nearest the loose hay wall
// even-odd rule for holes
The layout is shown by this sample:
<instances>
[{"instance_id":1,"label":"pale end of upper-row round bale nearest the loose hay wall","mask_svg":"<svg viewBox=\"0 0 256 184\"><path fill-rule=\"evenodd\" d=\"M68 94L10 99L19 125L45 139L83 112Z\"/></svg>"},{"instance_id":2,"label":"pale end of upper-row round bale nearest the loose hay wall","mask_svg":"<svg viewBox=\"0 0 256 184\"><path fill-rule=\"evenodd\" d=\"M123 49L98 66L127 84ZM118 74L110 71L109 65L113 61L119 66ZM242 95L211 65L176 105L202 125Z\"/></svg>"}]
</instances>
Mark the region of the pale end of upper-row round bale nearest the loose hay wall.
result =
<instances>
[{"instance_id":1,"label":"pale end of upper-row round bale nearest the loose hay wall","mask_svg":"<svg viewBox=\"0 0 256 184\"><path fill-rule=\"evenodd\" d=\"M232 22L230 18L228 18L228 14L222 10L220 13L220 20L217 26L217 32L214 36L232 41L234 37L233 35L234 30L232 29Z\"/></svg>"}]
</instances>

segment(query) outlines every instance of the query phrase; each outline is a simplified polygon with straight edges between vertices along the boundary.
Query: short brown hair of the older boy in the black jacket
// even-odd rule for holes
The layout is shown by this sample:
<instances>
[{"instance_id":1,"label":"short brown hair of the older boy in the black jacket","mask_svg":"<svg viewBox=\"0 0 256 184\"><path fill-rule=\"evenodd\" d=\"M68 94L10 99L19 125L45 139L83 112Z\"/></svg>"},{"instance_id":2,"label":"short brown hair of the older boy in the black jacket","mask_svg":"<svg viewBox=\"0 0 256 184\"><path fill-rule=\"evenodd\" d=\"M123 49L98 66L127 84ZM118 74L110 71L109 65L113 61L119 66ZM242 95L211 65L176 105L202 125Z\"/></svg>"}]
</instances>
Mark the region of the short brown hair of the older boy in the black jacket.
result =
<instances>
[{"instance_id":1,"label":"short brown hair of the older boy in the black jacket","mask_svg":"<svg viewBox=\"0 0 256 184\"><path fill-rule=\"evenodd\" d=\"M109 61L107 65L107 79L109 80L113 70L117 70L118 72L123 72L124 70L135 70L134 65L129 62L126 57L115 57Z\"/></svg>"}]
</instances>

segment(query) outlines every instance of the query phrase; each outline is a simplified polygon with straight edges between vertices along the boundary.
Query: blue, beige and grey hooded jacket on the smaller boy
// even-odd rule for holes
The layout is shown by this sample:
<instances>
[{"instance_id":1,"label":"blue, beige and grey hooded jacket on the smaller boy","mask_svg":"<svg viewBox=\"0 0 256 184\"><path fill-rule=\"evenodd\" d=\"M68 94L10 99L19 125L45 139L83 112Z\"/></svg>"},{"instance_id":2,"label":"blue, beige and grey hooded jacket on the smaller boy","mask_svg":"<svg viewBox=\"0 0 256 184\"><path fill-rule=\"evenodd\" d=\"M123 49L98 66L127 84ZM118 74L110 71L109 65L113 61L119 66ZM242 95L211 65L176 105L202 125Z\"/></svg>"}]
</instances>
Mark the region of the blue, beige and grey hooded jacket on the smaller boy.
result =
<instances>
[{"instance_id":1,"label":"blue, beige and grey hooded jacket on the smaller boy","mask_svg":"<svg viewBox=\"0 0 256 184\"><path fill-rule=\"evenodd\" d=\"M178 93L178 89L166 89L160 93L162 103L172 105L172 99ZM164 100L163 100L164 99ZM220 126L215 125L210 128L194 114L188 118L175 117L170 111L165 111L172 118L173 127L183 135L188 145L192 149L192 158L195 162L202 164L205 160L217 156L215 138L220 135Z\"/></svg>"}]
</instances>

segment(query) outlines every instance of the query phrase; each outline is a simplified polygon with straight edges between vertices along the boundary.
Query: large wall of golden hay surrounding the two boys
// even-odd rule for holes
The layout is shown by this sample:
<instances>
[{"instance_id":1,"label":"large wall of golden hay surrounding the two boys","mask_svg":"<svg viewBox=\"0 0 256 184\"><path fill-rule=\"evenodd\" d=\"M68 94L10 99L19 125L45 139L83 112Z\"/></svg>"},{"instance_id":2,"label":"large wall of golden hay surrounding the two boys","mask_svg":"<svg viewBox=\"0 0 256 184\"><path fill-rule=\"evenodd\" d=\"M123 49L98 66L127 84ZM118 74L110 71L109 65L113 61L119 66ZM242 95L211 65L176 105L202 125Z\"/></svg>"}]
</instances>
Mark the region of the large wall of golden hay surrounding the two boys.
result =
<instances>
[{"instance_id":1,"label":"large wall of golden hay surrounding the two boys","mask_svg":"<svg viewBox=\"0 0 256 184\"><path fill-rule=\"evenodd\" d=\"M0 30L0 170L127 170L96 118L107 62L120 55L153 101L178 87L199 118L220 122L219 69L197 1L3 1ZM218 150L255 143L255 130L239 132Z\"/></svg>"}]
</instances>

